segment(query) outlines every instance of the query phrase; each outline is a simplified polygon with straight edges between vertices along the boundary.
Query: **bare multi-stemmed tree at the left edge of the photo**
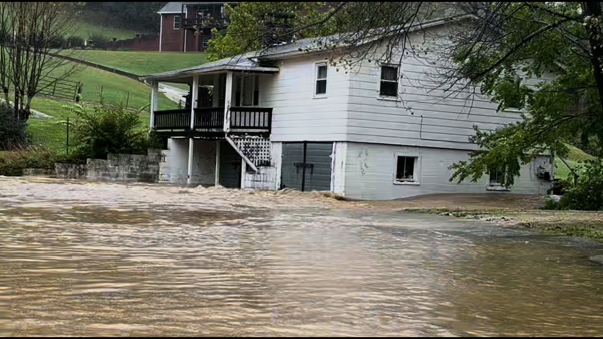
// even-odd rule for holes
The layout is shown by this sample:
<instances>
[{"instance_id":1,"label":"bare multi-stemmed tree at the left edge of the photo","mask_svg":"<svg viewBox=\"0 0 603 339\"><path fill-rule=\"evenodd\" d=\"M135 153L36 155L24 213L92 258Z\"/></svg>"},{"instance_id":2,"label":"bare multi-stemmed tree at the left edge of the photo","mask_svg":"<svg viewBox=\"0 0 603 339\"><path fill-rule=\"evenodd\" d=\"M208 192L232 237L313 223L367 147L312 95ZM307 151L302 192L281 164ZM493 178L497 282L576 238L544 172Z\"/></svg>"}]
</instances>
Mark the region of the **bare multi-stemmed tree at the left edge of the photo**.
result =
<instances>
[{"instance_id":1,"label":"bare multi-stemmed tree at the left edge of the photo","mask_svg":"<svg viewBox=\"0 0 603 339\"><path fill-rule=\"evenodd\" d=\"M0 2L0 87L16 117L27 121L40 80L69 77L76 69L54 54L72 33L77 2ZM45 86L52 82L45 81Z\"/></svg>"}]
</instances>

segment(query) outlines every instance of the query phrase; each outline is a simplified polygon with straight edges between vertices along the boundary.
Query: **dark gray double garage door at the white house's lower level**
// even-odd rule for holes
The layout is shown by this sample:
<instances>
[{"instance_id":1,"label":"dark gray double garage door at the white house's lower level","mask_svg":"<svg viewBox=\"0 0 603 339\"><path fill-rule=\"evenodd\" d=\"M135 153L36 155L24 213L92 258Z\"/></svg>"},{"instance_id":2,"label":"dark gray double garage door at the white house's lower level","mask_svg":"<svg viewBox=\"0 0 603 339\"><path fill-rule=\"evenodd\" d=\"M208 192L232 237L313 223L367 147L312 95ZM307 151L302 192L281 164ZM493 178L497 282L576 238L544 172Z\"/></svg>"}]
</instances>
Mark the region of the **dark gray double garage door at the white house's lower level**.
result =
<instances>
[{"instance_id":1,"label":"dark gray double garage door at the white house's lower level","mask_svg":"<svg viewBox=\"0 0 603 339\"><path fill-rule=\"evenodd\" d=\"M330 191L333 144L283 144L282 188Z\"/></svg>"}]
</instances>

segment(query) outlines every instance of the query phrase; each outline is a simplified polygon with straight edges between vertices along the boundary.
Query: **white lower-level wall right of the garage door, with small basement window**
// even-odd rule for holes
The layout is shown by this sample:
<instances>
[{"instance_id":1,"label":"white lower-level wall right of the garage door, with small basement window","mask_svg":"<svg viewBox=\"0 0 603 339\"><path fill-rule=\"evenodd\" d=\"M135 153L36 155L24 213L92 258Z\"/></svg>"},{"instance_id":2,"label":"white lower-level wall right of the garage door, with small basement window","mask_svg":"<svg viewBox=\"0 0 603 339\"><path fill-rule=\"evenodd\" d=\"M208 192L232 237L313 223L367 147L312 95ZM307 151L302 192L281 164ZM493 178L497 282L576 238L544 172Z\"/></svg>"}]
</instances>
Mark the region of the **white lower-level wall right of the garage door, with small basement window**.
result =
<instances>
[{"instance_id":1,"label":"white lower-level wall right of the garage door, with small basement window","mask_svg":"<svg viewBox=\"0 0 603 339\"><path fill-rule=\"evenodd\" d=\"M344 189L337 193L354 199L390 200L435 193L546 194L551 185L550 181L537 177L538 166L543 166L552 174L551 158L548 156L540 156L524 166L521 176L515 179L515 185L510 191L499 191L496 186L490 186L488 176L484 176L478 183L450 183L452 171L448 170L448 166L459 160L469 159L469 152L347 142L346 165L344 171L338 171L344 175ZM397 156L418 157L415 165L415 179L418 179L418 183L394 183Z\"/></svg>"}]
</instances>

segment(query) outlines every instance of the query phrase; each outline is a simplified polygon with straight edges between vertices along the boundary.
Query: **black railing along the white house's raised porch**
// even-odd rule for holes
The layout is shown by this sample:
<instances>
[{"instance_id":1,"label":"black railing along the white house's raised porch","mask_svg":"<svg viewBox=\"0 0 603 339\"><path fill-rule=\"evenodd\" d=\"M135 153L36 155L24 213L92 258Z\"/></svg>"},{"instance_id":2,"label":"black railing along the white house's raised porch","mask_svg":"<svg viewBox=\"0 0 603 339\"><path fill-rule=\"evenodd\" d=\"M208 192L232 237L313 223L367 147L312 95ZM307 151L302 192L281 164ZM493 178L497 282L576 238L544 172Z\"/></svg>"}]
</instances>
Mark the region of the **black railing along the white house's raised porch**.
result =
<instances>
[{"instance_id":1,"label":"black railing along the white house's raised porch","mask_svg":"<svg viewBox=\"0 0 603 339\"><path fill-rule=\"evenodd\" d=\"M230 130L270 133L272 107L230 107ZM195 109L194 130L224 130L224 107ZM158 130L191 130L191 110L154 112L153 127Z\"/></svg>"}]
</instances>

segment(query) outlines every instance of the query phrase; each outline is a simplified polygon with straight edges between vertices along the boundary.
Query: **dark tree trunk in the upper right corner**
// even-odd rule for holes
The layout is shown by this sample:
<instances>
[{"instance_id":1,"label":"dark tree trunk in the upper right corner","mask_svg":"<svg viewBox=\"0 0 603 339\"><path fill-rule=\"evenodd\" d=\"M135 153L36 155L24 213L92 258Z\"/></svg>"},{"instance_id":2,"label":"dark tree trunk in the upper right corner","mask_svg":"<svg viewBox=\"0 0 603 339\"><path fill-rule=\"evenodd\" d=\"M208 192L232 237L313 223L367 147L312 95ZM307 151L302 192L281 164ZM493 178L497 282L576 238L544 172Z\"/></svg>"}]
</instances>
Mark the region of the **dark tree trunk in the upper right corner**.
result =
<instances>
[{"instance_id":1,"label":"dark tree trunk in the upper right corner","mask_svg":"<svg viewBox=\"0 0 603 339\"><path fill-rule=\"evenodd\" d=\"M601 68L601 63L603 62L603 26L600 23L600 20L603 19L602 14L601 2L582 2L582 15L584 18L591 17L598 19L594 23L587 22L586 30L589 33L590 63L593 65L595 82L599 91L599 104L603 110L603 69ZM600 118L603 119L603 116Z\"/></svg>"}]
</instances>

